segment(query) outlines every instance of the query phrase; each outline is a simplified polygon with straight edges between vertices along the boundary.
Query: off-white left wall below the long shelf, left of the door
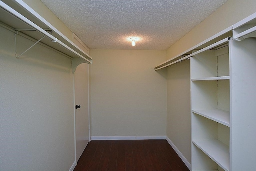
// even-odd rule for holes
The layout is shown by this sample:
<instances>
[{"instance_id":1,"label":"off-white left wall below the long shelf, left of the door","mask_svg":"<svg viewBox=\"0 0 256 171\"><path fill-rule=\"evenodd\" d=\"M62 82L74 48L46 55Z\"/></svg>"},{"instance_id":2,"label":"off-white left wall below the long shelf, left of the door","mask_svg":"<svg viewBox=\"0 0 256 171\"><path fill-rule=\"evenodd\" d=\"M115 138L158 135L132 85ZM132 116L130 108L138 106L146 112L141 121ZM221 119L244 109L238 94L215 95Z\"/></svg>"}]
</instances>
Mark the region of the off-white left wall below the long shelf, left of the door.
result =
<instances>
[{"instance_id":1,"label":"off-white left wall below the long shelf, left of the door","mask_svg":"<svg viewBox=\"0 0 256 171\"><path fill-rule=\"evenodd\" d=\"M40 45L20 59L0 27L0 170L66 171L74 163L71 60ZM20 53L32 42L18 37Z\"/></svg>"}]
</instances>

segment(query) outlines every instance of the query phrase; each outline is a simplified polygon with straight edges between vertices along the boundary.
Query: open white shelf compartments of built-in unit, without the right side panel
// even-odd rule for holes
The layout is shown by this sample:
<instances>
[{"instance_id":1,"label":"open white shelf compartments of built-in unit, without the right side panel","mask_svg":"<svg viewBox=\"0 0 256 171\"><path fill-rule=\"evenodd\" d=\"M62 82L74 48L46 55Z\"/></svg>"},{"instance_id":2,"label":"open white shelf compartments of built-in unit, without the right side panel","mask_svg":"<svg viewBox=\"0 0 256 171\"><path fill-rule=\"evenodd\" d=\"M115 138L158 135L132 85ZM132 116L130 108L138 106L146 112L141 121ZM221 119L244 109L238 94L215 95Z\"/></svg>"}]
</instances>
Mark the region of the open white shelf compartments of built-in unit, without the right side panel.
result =
<instances>
[{"instance_id":1,"label":"open white shelf compartments of built-in unit, without the right side panel","mask_svg":"<svg viewBox=\"0 0 256 171\"><path fill-rule=\"evenodd\" d=\"M220 170L221 168L229 171L228 52L228 43L226 43L190 57L192 170ZM203 158L206 161L201 163Z\"/></svg>"}]
</instances>

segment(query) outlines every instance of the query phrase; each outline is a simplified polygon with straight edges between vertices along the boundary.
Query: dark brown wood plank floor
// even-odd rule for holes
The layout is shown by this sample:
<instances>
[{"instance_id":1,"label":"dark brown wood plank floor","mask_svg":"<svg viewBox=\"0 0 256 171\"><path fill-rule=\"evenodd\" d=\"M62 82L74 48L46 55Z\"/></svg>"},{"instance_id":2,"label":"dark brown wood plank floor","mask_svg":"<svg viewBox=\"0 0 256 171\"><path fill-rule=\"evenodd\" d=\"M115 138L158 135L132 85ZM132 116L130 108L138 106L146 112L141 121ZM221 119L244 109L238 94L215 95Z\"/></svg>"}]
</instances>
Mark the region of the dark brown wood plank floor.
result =
<instances>
[{"instance_id":1,"label":"dark brown wood plank floor","mask_svg":"<svg viewBox=\"0 0 256 171\"><path fill-rule=\"evenodd\" d=\"M92 140L74 171L189 171L166 140Z\"/></svg>"}]
</instances>

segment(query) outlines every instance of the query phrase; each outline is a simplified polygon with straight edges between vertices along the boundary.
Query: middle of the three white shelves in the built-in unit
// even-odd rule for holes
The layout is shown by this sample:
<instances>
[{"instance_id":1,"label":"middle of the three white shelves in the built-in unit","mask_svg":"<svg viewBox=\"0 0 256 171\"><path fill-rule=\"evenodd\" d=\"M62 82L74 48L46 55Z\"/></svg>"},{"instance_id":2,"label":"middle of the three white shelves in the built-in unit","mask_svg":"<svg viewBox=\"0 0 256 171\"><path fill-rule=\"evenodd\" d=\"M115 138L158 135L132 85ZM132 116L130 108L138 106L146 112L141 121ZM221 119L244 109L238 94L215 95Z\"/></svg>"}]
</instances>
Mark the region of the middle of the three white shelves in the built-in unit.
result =
<instances>
[{"instance_id":1,"label":"middle of the three white shelves in the built-in unit","mask_svg":"<svg viewBox=\"0 0 256 171\"><path fill-rule=\"evenodd\" d=\"M216 121L226 126L230 126L230 114L229 111L224 111L220 109L192 109L193 113L204 116L208 119Z\"/></svg>"}]
</instances>

